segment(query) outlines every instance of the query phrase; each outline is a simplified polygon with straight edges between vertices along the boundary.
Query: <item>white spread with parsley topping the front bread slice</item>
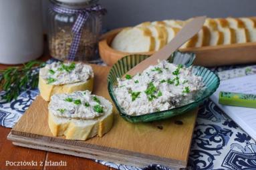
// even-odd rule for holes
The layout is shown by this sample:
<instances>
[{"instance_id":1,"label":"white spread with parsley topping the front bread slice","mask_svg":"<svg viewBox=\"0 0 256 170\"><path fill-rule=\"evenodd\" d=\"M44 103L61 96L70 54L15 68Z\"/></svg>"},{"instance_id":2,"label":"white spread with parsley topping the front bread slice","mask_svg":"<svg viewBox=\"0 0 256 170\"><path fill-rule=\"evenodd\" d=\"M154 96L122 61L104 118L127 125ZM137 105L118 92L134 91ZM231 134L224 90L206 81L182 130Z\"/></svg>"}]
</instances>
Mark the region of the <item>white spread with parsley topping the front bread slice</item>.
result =
<instances>
[{"instance_id":1,"label":"white spread with parsley topping the front bread slice","mask_svg":"<svg viewBox=\"0 0 256 170\"><path fill-rule=\"evenodd\" d=\"M57 117L94 119L104 115L107 106L102 104L99 97L91 95L90 91L76 91L51 96L49 111Z\"/></svg>"}]
</instances>

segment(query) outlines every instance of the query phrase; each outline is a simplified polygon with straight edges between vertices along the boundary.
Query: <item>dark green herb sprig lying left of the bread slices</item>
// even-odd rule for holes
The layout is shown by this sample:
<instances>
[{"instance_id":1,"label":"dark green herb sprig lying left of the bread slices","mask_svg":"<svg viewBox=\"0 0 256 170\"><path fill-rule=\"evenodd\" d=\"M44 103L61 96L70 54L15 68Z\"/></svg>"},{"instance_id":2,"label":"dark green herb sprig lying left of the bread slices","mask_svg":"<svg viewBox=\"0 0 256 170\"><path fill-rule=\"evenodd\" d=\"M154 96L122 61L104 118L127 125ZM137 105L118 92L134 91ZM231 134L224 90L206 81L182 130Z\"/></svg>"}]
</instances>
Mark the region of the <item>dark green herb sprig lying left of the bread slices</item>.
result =
<instances>
[{"instance_id":1,"label":"dark green herb sprig lying left of the bread slices","mask_svg":"<svg viewBox=\"0 0 256 170\"><path fill-rule=\"evenodd\" d=\"M5 91L1 99L10 102L17 99L19 94L27 86L35 88L38 85L38 73L33 73L35 66L43 67L40 61L29 61L23 67L9 67L0 70L0 88Z\"/></svg>"}]
</instances>

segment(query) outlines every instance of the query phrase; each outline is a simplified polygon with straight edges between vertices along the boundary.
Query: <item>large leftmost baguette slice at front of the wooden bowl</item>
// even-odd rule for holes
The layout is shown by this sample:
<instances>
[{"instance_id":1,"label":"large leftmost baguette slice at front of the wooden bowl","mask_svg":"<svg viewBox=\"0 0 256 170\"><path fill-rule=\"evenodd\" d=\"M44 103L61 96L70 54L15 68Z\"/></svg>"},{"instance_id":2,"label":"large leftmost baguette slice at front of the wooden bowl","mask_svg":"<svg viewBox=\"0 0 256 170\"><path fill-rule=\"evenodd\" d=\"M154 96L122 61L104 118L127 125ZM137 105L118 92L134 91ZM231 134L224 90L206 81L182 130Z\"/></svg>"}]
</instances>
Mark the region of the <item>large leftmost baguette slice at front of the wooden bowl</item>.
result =
<instances>
[{"instance_id":1,"label":"large leftmost baguette slice at front of the wooden bowl","mask_svg":"<svg viewBox=\"0 0 256 170\"><path fill-rule=\"evenodd\" d=\"M118 51L130 53L154 51L155 39L146 27L129 27L114 37L111 46Z\"/></svg>"}]
</instances>

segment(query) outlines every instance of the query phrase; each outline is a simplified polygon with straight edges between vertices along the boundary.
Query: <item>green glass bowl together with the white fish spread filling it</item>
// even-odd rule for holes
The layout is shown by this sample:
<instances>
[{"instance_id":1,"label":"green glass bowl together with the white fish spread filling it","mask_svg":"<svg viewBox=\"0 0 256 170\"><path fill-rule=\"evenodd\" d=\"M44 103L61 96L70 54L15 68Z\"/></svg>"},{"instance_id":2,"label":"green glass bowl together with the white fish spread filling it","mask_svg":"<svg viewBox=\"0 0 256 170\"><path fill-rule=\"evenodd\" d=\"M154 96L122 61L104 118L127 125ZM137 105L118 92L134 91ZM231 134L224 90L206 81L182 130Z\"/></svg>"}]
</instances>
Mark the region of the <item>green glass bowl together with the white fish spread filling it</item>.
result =
<instances>
[{"instance_id":1,"label":"green glass bowl together with the white fish spread filling it","mask_svg":"<svg viewBox=\"0 0 256 170\"><path fill-rule=\"evenodd\" d=\"M127 121L157 121L186 113L198 107L219 87L219 77L215 73L192 65L194 53L180 51L141 73L126 75L147 57L123 57L112 66L108 75L110 97Z\"/></svg>"}]
</instances>

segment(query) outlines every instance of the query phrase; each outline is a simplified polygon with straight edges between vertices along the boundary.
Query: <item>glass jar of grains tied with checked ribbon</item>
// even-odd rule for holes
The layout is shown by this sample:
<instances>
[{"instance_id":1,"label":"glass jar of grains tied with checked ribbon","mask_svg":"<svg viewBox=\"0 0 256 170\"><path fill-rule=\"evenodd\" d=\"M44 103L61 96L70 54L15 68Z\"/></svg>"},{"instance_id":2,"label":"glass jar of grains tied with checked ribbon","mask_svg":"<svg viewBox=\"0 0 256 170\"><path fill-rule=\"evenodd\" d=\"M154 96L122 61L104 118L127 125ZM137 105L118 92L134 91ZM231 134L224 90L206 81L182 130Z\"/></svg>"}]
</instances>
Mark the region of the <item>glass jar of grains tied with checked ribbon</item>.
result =
<instances>
[{"instance_id":1,"label":"glass jar of grains tied with checked ribbon","mask_svg":"<svg viewBox=\"0 0 256 170\"><path fill-rule=\"evenodd\" d=\"M97 59L102 15L98 0L51 0L49 7L49 53L59 60Z\"/></svg>"}]
</instances>

